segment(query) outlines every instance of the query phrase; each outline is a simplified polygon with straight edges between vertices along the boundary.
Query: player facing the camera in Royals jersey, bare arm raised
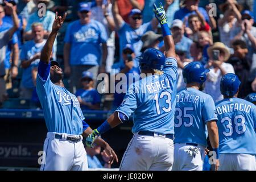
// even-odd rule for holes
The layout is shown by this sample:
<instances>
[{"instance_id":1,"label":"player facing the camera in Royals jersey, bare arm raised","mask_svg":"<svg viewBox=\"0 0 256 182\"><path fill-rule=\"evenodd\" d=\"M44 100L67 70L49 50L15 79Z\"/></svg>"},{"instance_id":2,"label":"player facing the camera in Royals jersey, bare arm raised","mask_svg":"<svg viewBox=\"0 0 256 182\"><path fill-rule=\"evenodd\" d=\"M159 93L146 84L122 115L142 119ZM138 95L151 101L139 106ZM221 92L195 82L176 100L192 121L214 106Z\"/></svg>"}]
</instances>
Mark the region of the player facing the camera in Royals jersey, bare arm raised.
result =
<instances>
[{"instance_id":1,"label":"player facing the camera in Royals jersey, bare arm raised","mask_svg":"<svg viewBox=\"0 0 256 182\"><path fill-rule=\"evenodd\" d=\"M36 78L36 92L44 112L44 119L48 129L44 141L44 154L41 170L86 170L88 163L82 133L86 137L92 129L84 122L84 115L80 109L76 96L65 89L63 71L57 61L49 62L52 46L65 19L57 16L53 22L52 32L43 47L38 76ZM117 156L109 144L98 138L97 144L105 148L111 157L110 162L117 160Z\"/></svg>"}]
</instances>

